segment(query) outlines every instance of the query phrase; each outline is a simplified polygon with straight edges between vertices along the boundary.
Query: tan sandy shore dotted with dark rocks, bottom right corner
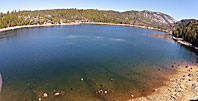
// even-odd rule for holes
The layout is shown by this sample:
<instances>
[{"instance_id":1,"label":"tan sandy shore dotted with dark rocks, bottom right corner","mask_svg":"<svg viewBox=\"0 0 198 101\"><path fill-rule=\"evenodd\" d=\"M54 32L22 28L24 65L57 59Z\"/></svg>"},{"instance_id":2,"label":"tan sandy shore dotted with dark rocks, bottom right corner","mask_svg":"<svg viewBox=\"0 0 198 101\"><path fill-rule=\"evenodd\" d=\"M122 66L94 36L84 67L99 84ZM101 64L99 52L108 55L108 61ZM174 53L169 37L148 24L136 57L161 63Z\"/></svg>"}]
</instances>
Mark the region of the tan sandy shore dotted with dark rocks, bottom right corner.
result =
<instances>
[{"instance_id":1,"label":"tan sandy shore dotted with dark rocks, bottom right corner","mask_svg":"<svg viewBox=\"0 0 198 101\"><path fill-rule=\"evenodd\" d=\"M169 77L166 86L155 89L146 97L130 99L129 101L190 101L198 100L198 66L183 65L177 68L177 73Z\"/></svg>"}]
</instances>

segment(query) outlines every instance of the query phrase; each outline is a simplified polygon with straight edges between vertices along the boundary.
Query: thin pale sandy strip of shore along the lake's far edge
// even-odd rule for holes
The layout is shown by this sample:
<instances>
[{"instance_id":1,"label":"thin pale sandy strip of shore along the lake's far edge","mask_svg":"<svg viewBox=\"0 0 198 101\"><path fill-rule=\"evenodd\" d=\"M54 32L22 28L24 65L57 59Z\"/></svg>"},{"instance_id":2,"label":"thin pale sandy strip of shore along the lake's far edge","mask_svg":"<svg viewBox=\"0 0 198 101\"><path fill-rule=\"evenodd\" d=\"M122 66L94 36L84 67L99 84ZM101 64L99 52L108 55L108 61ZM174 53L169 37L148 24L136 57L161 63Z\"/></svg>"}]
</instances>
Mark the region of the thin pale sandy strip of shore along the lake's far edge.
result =
<instances>
[{"instance_id":1,"label":"thin pale sandy strip of shore along the lake's far edge","mask_svg":"<svg viewBox=\"0 0 198 101\"><path fill-rule=\"evenodd\" d=\"M172 32L167 30L161 30L154 27L146 27L146 26L139 26L139 25L130 25L130 24L115 24L115 23L102 23L102 22L72 22L72 23L61 23L61 24L41 24L41 25L23 25L23 26L13 26L13 27L7 27L7 28L1 28L0 32L4 31L10 31L15 29L21 29L21 28L31 28L31 27L47 27L47 26L64 26L64 25L79 25L79 24L96 24L96 25L114 25L114 26L127 26L127 27L134 27L134 28L142 28L142 29L150 29L155 31L161 31L168 34L172 34Z\"/></svg>"}]
</instances>

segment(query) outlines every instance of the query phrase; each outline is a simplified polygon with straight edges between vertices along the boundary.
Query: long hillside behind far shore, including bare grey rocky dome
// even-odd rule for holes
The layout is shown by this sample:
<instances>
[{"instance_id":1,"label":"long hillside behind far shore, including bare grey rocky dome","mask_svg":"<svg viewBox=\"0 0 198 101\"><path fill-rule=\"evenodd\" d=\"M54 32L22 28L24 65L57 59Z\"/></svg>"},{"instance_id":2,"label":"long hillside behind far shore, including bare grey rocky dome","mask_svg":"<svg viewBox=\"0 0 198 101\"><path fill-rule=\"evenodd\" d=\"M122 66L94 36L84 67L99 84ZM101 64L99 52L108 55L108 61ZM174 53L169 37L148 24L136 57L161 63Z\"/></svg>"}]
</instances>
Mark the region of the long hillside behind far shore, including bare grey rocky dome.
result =
<instances>
[{"instance_id":1,"label":"long hillside behind far shore, including bare grey rocky dome","mask_svg":"<svg viewBox=\"0 0 198 101\"><path fill-rule=\"evenodd\" d=\"M95 9L55 9L38 11L18 11L0 14L0 28L46 23L104 22L131 24L168 30L176 20L172 17L151 11L103 11Z\"/></svg>"}]
</instances>

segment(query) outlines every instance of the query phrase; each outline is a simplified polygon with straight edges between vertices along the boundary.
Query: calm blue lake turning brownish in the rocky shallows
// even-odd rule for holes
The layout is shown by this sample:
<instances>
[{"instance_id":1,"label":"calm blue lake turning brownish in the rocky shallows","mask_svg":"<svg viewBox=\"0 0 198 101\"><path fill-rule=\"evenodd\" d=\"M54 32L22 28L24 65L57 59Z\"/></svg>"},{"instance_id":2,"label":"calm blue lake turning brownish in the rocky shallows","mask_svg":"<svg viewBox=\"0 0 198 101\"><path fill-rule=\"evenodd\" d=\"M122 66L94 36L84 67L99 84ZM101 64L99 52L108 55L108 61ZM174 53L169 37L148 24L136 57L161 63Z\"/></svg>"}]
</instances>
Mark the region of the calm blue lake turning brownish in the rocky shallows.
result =
<instances>
[{"instance_id":1,"label":"calm blue lake turning brownish in the rocky shallows","mask_svg":"<svg viewBox=\"0 0 198 101\"><path fill-rule=\"evenodd\" d=\"M197 55L158 31L110 25L0 33L1 101L115 101L151 94ZM45 98L43 94L46 93Z\"/></svg>"}]
</instances>

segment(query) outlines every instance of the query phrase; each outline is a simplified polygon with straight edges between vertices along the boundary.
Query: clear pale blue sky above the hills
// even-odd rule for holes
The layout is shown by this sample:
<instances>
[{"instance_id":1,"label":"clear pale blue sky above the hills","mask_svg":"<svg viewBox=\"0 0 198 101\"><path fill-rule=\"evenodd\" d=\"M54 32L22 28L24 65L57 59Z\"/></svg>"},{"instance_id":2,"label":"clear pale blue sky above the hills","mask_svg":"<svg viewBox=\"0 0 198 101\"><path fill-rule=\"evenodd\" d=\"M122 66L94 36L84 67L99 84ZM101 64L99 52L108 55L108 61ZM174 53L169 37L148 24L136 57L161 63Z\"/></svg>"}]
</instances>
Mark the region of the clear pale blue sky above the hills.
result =
<instances>
[{"instance_id":1,"label":"clear pale blue sky above the hills","mask_svg":"<svg viewBox=\"0 0 198 101\"><path fill-rule=\"evenodd\" d=\"M198 0L0 0L0 12L41 9L151 10L176 20L198 19Z\"/></svg>"}]
</instances>

